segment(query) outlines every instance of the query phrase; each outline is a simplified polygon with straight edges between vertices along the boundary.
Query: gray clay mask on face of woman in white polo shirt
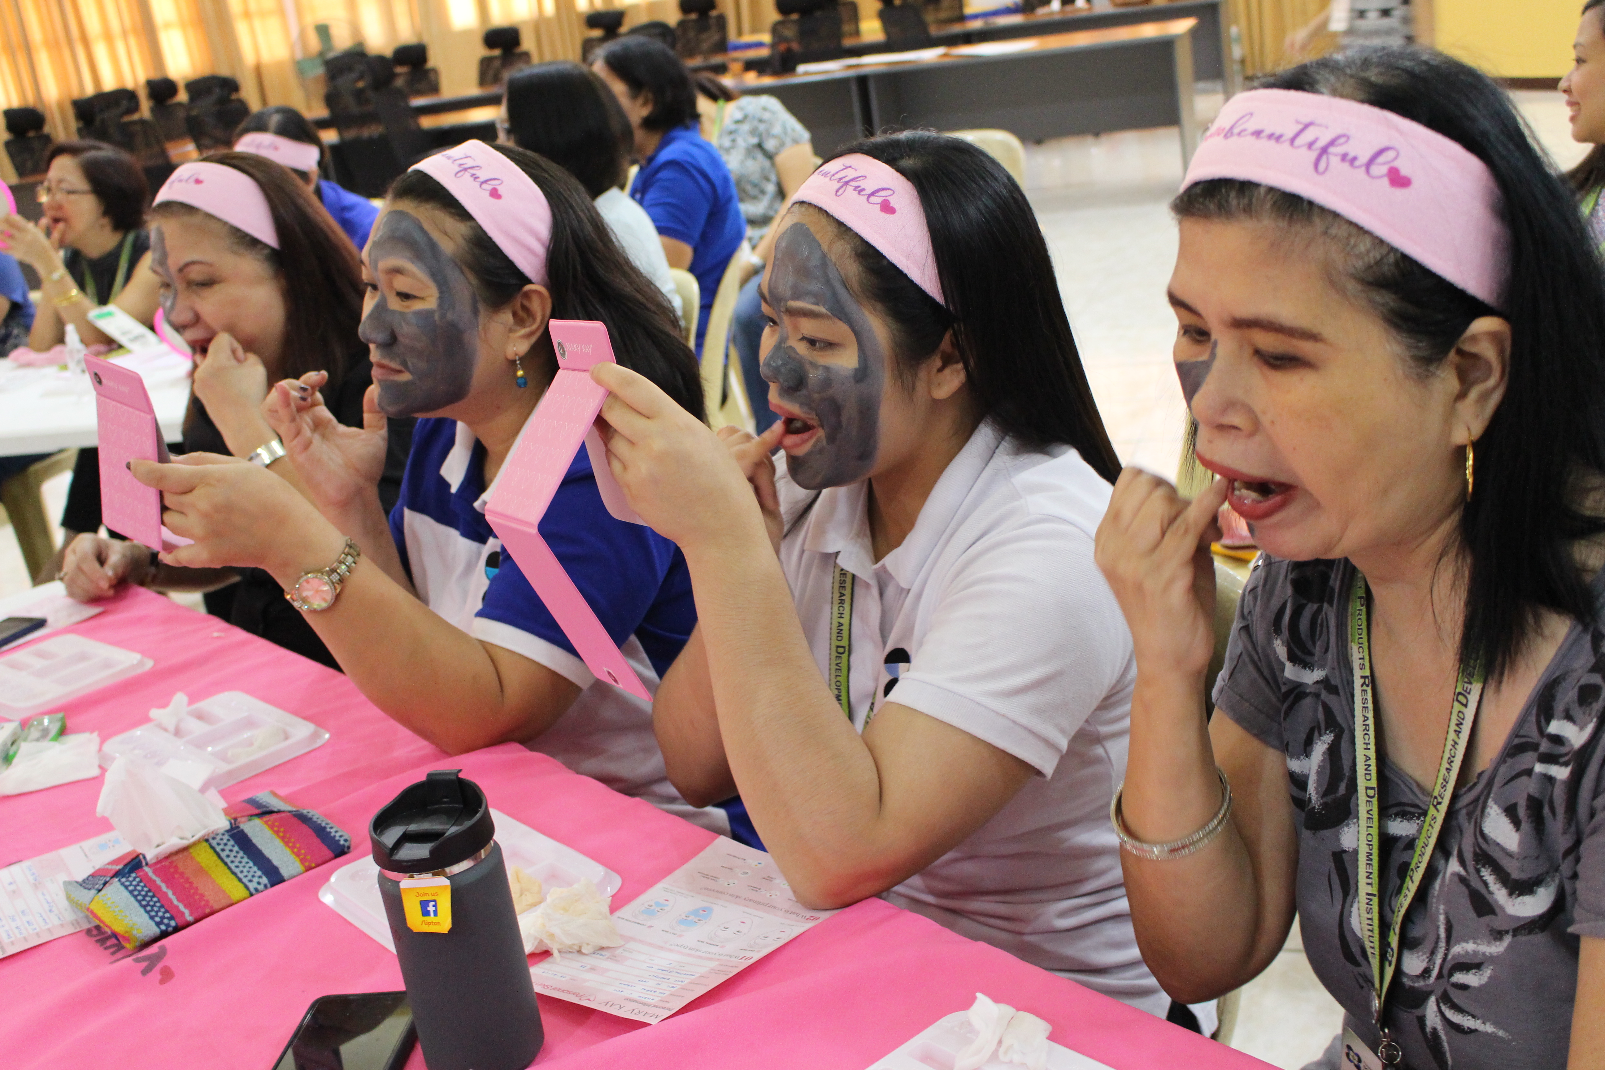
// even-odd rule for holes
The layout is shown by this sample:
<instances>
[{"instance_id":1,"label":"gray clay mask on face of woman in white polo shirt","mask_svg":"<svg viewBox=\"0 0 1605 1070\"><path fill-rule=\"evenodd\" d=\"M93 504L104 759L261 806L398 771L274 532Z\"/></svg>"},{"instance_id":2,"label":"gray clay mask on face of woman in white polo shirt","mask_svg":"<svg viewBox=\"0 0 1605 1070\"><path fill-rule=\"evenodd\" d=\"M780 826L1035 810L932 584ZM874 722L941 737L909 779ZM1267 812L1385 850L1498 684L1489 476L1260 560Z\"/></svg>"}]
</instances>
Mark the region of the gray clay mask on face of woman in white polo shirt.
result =
<instances>
[{"instance_id":1,"label":"gray clay mask on face of woman in white polo shirt","mask_svg":"<svg viewBox=\"0 0 1605 1070\"><path fill-rule=\"evenodd\" d=\"M775 242L767 297L780 326L764 356L764 379L780 387L782 404L802 412L822 432L807 452L786 456L786 470L811 491L857 483L870 475L880 452L886 353L873 321L802 223L788 226ZM786 329L785 313L796 305L822 308L852 330L859 343L855 367L809 358L807 345ZM807 322L796 319L793 326L806 332Z\"/></svg>"}]
</instances>

